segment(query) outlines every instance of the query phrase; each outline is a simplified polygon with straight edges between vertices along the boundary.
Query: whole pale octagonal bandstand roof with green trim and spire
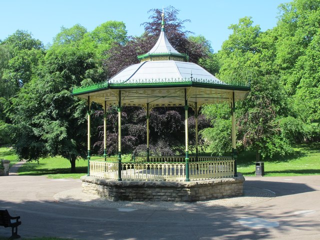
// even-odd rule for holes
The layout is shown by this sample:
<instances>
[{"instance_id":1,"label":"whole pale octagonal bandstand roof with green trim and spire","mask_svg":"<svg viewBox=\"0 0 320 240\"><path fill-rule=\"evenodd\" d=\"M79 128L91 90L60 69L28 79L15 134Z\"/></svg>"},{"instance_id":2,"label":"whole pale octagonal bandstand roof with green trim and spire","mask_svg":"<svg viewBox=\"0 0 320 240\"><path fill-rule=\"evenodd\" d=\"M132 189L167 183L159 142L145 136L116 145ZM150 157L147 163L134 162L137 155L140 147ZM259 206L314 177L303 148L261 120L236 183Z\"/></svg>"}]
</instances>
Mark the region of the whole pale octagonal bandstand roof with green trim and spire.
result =
<instances>
[{"instance_id":1,"label":"whole pale octagonal bandstand roof with green trim and spire","mask_svg":"<svg viewBox=\"0 0 320 240\"><path fill-rule=\"evenodd\" d=\"M237 79L223 82L201 66L187 62L175 50L164 30L155 45L138 56L140 63L125 67L110 79L76 87L72 94L102 105L183 106L244 99L250 87Z\"/></svg>"}]
</instances>

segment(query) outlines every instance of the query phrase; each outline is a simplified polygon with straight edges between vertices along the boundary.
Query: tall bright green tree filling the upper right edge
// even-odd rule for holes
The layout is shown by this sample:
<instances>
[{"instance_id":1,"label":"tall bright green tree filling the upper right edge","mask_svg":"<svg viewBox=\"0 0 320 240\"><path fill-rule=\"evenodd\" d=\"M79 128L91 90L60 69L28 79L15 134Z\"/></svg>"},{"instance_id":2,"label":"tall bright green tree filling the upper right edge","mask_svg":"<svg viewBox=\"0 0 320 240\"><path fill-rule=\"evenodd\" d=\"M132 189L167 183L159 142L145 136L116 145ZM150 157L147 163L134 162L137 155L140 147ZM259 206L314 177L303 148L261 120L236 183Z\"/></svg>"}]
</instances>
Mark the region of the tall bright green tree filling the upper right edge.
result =
<instances>
[{"instance_id":1,"label":"tall bright green tree filling the upper right edge","mask_svg":"<svg viewBox=\"0 0 320 240\"><path fill-rule=\"evenodd\" d=\"M309 129L304 138L310 139L311 123L320 119L320 1L293 0L279 9L274 65L289 96L290 115Z\"/></svg>"}]
</instances>

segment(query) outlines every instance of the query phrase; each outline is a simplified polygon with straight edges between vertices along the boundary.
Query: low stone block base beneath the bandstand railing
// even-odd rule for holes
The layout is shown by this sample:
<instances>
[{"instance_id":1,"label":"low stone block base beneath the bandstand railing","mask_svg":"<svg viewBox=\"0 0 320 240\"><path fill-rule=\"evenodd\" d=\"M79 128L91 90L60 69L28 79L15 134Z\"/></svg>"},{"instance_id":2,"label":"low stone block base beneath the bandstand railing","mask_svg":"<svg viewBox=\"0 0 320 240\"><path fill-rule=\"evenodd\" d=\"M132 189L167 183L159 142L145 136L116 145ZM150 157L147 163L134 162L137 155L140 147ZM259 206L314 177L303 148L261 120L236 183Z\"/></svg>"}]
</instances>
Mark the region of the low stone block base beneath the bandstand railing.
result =
<instances>
[{"instance_id":1,"label":"low stone block base beneath the bandstand railing","mask_svg":"<svg viewBox=\"0 0 320 240\"><path fill-rule=\"evenodd\" d=\"M112 181L82 176L82 192L112 201L204 201L243 193L244 177L202 181Z\"/></svg>"}]
</instances>

